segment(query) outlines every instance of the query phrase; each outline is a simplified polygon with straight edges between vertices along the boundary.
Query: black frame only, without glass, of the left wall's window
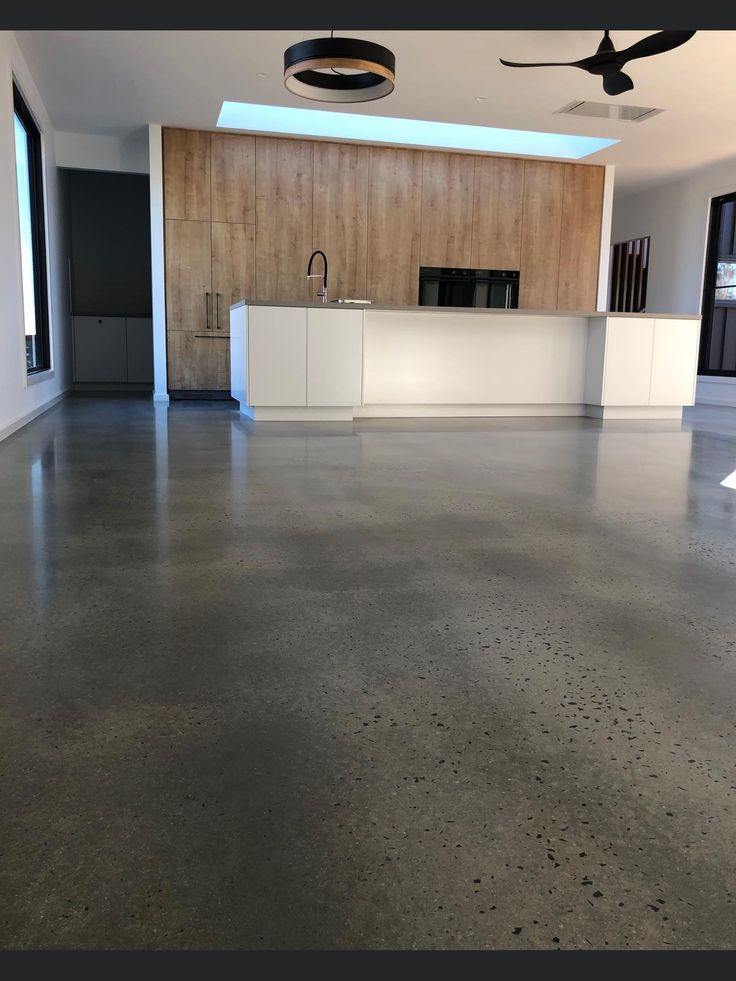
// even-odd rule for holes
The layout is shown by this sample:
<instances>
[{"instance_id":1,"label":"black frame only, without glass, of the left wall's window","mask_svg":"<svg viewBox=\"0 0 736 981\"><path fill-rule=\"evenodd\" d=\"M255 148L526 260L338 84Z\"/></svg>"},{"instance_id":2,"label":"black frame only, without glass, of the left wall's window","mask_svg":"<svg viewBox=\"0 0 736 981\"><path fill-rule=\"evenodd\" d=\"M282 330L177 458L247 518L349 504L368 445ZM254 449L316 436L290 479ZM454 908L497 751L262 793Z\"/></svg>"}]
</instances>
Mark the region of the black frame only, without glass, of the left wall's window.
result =
<instances>
[{"instance_id":1,"label":"black frame only, without glass, of the left wall's window","mask_svg":"<svg viewBox=\"0 0 736 981\"><path fill-rule=\"evenodd\" d=\"M33 256L33 291L36 304L36 338L38 364L28 367L29 375L51 368L49 338L49 290L46 268L46 211L43 180L43 148L41 130L33 118L20 89L13 80L13 111L26 133L28 148L29 197L31 204L31 245ZM17 179L17 178L16 178ZM26 347L26 358L27 347Z\"/></svg>"}]
</instances>

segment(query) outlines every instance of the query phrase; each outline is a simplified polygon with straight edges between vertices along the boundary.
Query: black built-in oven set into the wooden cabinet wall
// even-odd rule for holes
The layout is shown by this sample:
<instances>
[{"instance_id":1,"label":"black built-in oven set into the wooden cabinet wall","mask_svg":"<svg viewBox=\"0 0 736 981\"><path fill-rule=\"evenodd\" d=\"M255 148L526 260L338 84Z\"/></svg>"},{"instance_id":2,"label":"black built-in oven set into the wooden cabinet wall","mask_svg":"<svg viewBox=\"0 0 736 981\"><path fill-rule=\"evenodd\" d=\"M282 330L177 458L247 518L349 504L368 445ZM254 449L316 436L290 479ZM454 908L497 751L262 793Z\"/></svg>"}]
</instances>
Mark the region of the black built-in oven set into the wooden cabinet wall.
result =
<instances>
[{"instance_id":1,"label":"black built-in oven set into the wooden cabinet wall","mask_svg":"<svg viewBox=\"0 0 736 981\"><path fill-rule=\"evenodd\" d=\"M519 306L519 271L421 266L419 305L516 308Z\"/></svg>"}]
</instances>

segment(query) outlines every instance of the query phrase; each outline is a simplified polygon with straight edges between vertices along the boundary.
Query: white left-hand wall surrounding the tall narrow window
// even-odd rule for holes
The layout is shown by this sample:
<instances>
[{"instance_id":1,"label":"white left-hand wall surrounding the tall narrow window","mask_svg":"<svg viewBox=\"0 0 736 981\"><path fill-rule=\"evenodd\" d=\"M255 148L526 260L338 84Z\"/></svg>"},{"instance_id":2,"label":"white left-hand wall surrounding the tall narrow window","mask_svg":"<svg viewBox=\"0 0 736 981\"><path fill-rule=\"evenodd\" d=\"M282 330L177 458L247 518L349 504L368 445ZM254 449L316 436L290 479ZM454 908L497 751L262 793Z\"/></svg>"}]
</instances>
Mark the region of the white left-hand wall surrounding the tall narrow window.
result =
<instances>
[{"instance_id":1,"label":"white left-hand wall surrounding the tall narrow window","mask_svg":"<svg viewBox=\"0 0 736 981\"><path fill-rule=\"evenodd\" d=\"M13 77L41 130L46 180L52 369L30 378L25 366ZM13 34L0 31L0 439L52 405L71 383L69 296L63 235L51 123Z\"/></svg>"}]
</instances>

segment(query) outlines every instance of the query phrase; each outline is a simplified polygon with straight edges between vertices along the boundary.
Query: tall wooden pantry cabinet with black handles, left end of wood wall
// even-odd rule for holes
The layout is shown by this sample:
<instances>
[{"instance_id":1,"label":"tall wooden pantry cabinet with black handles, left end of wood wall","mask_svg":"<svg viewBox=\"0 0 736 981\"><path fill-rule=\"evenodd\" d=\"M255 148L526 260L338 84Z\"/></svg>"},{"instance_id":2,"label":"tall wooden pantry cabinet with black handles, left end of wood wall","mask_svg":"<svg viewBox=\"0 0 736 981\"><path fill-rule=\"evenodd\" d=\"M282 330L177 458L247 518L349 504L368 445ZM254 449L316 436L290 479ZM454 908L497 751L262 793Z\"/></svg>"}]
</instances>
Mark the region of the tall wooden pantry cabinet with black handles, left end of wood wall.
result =
<instances>
[{"instance_id":1,"label":"tall wooden pantry cabinet with black handles, left end of wood wall","mask_svg":"<svg viewBox=\"0 0 736 981\"><path fill-rule=\"evenodd\" d=\"M255 278L255 139L165 129L168 384L230 390L230 305Z\"/></svg>"}]
</instances>

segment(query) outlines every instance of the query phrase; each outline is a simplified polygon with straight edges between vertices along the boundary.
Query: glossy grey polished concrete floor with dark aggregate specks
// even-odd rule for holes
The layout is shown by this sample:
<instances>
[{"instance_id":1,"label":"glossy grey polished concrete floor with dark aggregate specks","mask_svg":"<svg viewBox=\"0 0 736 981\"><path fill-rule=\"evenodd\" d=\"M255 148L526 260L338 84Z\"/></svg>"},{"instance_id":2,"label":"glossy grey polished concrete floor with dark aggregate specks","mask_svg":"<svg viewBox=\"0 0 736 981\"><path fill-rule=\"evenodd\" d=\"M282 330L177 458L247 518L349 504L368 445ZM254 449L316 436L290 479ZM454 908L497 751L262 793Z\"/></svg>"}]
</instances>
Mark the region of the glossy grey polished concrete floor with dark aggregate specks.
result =
<instances>
[{"instance_id":1,"label":"glossy grey polished concrete floor with dark aggregate specks","mask_svg":"<svg viewBox=\"0 0 736 981\"><path fill-rule=\"evenodd\" d=\"M736 946L736 410L0 444L0 946Z\"/></svg>"}]
</instances>

